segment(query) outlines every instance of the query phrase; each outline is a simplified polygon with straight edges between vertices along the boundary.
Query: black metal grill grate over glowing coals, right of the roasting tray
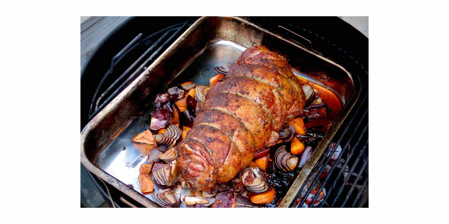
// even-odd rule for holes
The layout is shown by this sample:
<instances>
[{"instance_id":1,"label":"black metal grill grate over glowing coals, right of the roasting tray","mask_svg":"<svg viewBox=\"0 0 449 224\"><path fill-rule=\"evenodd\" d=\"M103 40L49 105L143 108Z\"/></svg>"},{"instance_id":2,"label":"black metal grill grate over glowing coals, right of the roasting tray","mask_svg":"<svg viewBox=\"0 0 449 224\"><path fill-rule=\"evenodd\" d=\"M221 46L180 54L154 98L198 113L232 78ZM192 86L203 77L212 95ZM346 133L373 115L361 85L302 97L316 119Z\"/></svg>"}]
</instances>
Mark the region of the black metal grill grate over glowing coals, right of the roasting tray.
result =
<instances>
[{"instance_id":1,"label":"black metal grill grate over glowing coals, right of the roasting tray","mask_svg":"<svg viewBox=\"0 0 449 224\"><path fill-rule=\"evenodd\" d=\"M295 29L295 32L297 33L287 30L285 35L335 60L351 73L357 73L361 78L362 87L357 103L321 155L317 165L304 181L296 194L297 200L291 204L291 207L309 207L309 205L313 207L367 206L368 71L354 56L326 38L305 28ZM337 159L331 161L332 155L338 149L341 149L341 151ZM330 162L333 165L329 169L329 166L326 167L326 165ZM325 175L326 172L327 176ZM313 190L316 191L313 192L315 194L311 194ZM357 191L357 194L354 190ZM322 198L321 192L326 195L324 198Z\"/></svg>"}]
</instances>

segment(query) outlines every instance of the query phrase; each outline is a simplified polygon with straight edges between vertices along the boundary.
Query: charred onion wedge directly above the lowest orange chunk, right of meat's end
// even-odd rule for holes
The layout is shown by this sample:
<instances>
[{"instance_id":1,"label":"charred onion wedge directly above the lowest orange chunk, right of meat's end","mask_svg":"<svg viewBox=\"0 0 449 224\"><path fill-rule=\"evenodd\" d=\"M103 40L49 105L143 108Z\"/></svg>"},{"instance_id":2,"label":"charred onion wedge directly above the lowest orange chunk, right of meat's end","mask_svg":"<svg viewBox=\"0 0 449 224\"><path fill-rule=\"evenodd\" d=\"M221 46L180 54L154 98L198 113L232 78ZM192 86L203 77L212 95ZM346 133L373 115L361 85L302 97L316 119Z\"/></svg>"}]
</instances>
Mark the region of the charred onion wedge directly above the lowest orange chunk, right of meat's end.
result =
<instances>
[{"instance_id":1,"label":"charred onion wedge directly above the lowest orange chunk, right of meat's end","mask_svg":"<svg viewBox=\"0 0 449 224\"><path fill-rule=\"evenodd\" d=\"M262 193L269 190L264 172L259 167L247 168L242 172L240 179L247 190L251 192Z\"/></svg>"}]
</instances>

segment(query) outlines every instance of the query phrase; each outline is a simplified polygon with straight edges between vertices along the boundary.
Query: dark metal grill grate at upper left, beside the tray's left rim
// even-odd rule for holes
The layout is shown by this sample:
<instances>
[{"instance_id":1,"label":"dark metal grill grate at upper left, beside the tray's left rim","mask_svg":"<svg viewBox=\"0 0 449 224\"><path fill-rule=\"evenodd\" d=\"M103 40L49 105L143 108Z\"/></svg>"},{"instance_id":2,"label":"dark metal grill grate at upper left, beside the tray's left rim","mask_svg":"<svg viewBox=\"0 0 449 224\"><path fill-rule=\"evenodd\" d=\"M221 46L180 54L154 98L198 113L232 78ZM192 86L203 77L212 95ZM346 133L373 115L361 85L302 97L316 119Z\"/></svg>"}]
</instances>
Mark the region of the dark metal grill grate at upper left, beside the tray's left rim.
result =
<instances>
[{"instance_id":1,"label":"dark metal grill grate at upper left, beside the tray's left rim","mask_svg":"<svg viewBox=\"0 0 449 224\"><path fill-rule=\"evenodd\" d=\"M139 75L146 69L145 66L149 66L153 62L153 60L156 59L160 55L160 53L162 53L170 44L172 44L176 40L176 38L178 38L180 34L182 34L183 31L191 26L193 22L194 21L188 20L186 22L166 27L153 34L150 34L143 39L141 38L142 33L140 33L125 47L123 47L123 49L112 58L110 68L107 70L106 74L103 76L97 86L97 89L95 90L92 101L90 103L88 119L91 120L95 115L97 115L97 113L100 112L101 109L103 109L112 99L114 99L114 97L117 96L124 87L128 86L129 83L132 82L137 75ZM112 80L112 84L108 88L106 88L106 90L104 90L101 95L99 95L106 79L114 79L111 77L115 76L111 74L116 72L115 70L119 70L114 70L114 68L117 64L119 64L120 60L122 60L123 57L127 56L129 52L135 50L137 47L147 46L150 47L148 47L146 51L141 56L139 56L137 60L135 60L134 63L132 63L128 67L128 69L126 69L118 78ZM158 48L154 50L156 47ZM150 54L150 52L152 52L152 54L143 63L141 63L145 56ZM139 63L141 64L139 65ZM139 65L139 67L136 68L136 65ZM133 69L134 72L131 75L128 75ZM123 81L124 78L126 78L126 80Z\"/></svg>"}]
</instances>

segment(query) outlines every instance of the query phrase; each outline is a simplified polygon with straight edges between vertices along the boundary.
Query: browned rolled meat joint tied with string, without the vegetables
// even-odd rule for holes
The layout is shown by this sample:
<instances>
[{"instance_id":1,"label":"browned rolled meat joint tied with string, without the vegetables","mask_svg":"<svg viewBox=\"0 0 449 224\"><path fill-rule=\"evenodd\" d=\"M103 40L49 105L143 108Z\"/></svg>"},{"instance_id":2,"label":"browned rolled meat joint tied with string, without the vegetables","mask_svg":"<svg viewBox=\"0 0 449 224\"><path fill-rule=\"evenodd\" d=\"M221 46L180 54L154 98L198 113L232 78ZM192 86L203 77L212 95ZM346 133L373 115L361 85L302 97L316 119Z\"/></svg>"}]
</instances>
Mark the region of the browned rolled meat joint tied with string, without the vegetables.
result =
<instances>
[{"instance_id":1,"label":"browned rolled meat joint tied with string, without the vegetables","mask_svg":"<svg viewBox=\"0 0 449 224\"><path fill-rule=\"evenodd\" d=\"M177 146L185 181L211 191L247 168L257 150L304 110L301 84L287 60L263 46L242 52L207 92L193 128Z\"/></svg>"}]
</instances>

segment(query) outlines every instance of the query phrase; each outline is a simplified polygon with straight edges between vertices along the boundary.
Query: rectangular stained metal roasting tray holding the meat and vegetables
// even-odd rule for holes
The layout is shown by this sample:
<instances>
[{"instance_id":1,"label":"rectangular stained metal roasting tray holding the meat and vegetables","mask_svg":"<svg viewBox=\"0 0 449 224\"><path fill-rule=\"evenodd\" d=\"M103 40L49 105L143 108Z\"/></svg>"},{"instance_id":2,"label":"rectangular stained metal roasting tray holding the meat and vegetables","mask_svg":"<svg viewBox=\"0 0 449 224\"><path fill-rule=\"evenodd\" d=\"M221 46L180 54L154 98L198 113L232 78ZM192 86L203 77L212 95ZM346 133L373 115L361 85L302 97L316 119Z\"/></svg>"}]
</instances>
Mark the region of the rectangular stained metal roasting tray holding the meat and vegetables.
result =
<instances>
[{"instance_id":1,"label":"rectangular stained metal roasting tray holding the meat and vegetables","mask_svg":"<svg viewBox=\"0 0 449 224\"><path fill-rule=\"evenodd\" d=\"M131 141L145 130L154 95L167 86L193 81L209 85L214 68L235 63L247 47L264 45L286 56L295 75L335 91L343 109L307 164L295 177L279 207L289 207L360 92L360 82L342 66L318 52L286 39L241 17L201 17L158 59L97 114L81 132L81 162L145 207L158 207L151 194L141 194L137 177L149 148ZM158 186L154 184L157 192ZM162 187L161 187L162 188ZM190 194L185 189L182 194ZM180 207L186 207L182 202Z\"/></svg>"}]
</instances>

